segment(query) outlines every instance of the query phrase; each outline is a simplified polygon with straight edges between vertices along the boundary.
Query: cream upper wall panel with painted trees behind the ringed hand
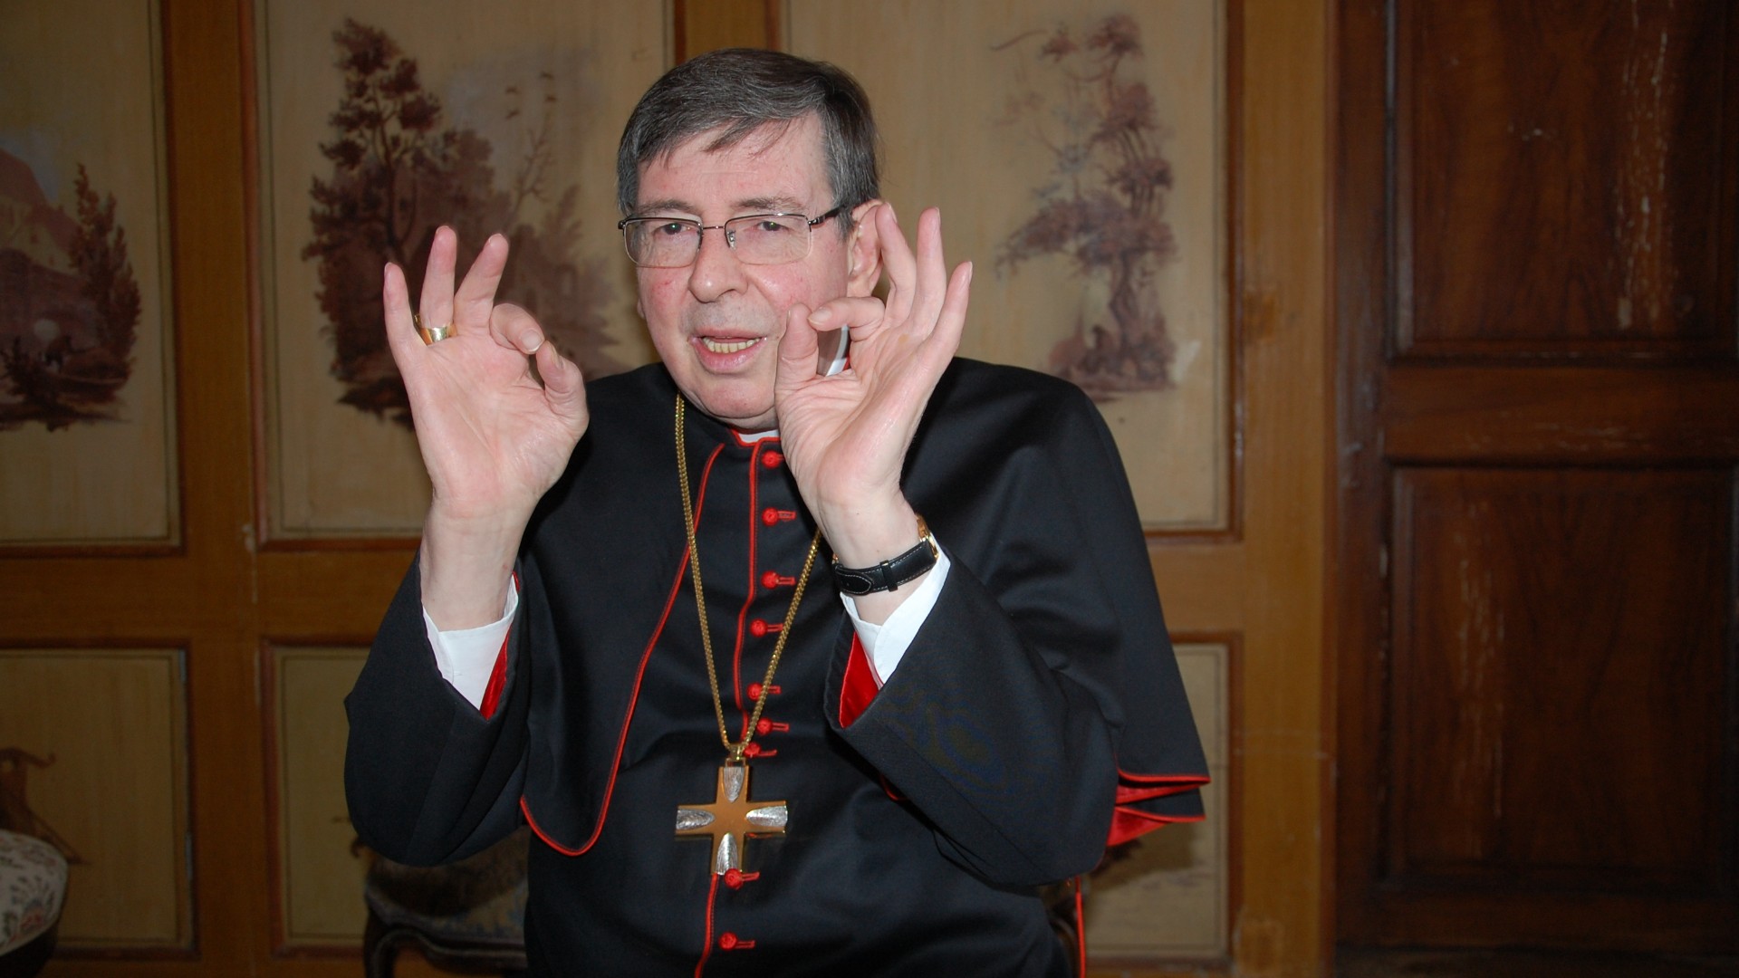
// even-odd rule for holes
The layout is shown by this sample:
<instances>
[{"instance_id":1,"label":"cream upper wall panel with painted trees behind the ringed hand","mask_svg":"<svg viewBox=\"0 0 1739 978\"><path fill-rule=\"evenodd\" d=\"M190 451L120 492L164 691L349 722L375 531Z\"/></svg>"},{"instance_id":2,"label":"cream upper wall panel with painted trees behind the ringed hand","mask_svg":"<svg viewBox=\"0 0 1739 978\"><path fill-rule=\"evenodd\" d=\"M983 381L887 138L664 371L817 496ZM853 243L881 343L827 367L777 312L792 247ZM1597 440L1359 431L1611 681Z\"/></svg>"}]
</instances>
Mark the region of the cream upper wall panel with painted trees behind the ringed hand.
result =
<instances>
[{"instance_id":1,"label":"cream upper wall panel with painted trees behind the ringed hand","mask_svg":"<svg viewBox=\"0 0 1739 978\"><path fill-rule=\"evenodd\" d=\"M257 0L254 28L266 536L409 546L430 486L381 329L379 270L400 263L417 296L436 226L459 231L461 268L503 231L515 258L501 301L537 311L588 376L652 360L612 226L614 150L664 71L666 14L631 2L522 2L501 16L471 3ZM370 31L438 106L428 134L384 124L379 139L416 146L402 178L343 169L323 151L370 139L330 122L346 84L369 84L336 64L336 38L362 44ZM443 137L463 148L440 148ZM318 183L358 190L327 204ZM393 193L417 204L390 216L370 204ZM318 233L329 207L358 216ZM393 228L363 231L370 221Z\"/></svg>"}]
</instances>

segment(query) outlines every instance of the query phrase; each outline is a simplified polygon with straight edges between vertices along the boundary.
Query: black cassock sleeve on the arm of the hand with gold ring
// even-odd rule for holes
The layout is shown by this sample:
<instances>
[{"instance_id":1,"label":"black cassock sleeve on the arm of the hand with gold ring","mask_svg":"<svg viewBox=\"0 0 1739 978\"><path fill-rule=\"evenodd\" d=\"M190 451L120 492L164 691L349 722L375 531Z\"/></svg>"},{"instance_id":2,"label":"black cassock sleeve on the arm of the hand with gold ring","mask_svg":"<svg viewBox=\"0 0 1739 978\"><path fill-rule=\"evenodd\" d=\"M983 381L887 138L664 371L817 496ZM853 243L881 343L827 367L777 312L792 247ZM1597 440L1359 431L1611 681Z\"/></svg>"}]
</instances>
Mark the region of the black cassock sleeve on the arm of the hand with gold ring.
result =
<instances>
[{"instance_id":1,"label":"black cassock sleeve on the arm of the hand with gold ring","mask_svg":"<svg viewBox=\"0 0 1739 978\"><path fill-rule=\"evenodd\" d=\"M518 640L518 625L508 646ZM388 607L350 696L344 795L365 846L409 865L461 860L520 823L525 682L516 654L485 719L435 665L416 562Z\"/></svg>"}]
</instances>

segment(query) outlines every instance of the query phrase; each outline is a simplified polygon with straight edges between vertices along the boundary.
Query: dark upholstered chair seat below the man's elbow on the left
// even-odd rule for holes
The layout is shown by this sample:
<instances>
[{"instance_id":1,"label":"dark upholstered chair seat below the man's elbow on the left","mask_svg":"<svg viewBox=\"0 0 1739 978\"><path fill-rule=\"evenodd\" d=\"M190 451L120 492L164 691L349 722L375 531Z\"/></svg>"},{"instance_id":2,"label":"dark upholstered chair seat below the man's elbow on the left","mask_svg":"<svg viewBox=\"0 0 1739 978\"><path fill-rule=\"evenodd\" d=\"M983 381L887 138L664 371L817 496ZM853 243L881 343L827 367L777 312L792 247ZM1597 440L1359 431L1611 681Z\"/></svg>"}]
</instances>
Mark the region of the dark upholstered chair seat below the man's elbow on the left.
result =
<instances>
[{"instance_id":1,"label":"dark upholstered chair seat below the man's elbow on the left","mask_svg":"<svg viewBox=\"0 0 1739 978\"><path fill-rule=\"evenodd\" d=\"M367 976L391 978L393 961L410 941L445 968L523 969L529 839L520 828L470 860L445 867L407 867L376 858L363 886Z\"/></svg>"}]
</instances>

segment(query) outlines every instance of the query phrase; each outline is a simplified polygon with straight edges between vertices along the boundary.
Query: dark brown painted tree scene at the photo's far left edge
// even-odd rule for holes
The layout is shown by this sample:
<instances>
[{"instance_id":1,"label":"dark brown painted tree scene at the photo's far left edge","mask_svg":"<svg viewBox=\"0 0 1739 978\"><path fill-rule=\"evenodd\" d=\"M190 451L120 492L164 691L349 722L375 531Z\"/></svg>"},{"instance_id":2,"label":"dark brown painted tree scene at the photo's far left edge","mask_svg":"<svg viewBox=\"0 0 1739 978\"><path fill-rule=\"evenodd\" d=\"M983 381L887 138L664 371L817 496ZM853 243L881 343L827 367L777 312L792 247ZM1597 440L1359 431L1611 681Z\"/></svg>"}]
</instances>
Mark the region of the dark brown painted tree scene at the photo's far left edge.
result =
<instances>
[{"instance_id":1,"label":"dark brown painted tree scene at the photo's far left edge","mask_svg":"<svg viewBox=\"0 0 1739 978\"><path fill-rule=\"evenodd\" d=\"M49 204L0 150L0 430L118 418L139 329L139 282L115 195L75 178L77 214Z\"/></svg>"}]
</instances>

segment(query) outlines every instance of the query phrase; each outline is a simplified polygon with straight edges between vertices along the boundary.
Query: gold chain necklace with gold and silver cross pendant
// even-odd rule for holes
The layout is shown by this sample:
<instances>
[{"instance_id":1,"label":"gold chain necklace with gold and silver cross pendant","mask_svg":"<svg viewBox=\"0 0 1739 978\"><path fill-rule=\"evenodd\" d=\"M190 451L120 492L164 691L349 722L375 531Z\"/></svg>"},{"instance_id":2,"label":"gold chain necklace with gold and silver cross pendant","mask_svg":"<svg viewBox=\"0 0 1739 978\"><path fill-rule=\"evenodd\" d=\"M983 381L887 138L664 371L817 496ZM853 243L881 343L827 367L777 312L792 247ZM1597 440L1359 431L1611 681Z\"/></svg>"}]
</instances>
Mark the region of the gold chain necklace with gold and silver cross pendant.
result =
<instances>
[{"instance_id":1,"label":"gold chain necklace with gold and silver cross pendant","mask_svg":"<svg viewBox=\"0 0 1739 978\"><path fill-rule=\"evenodd\" d=\"M767 708L767 694L772 693L772 677L779 670L779 658L784 654L786 637L791 635L791 623L796 620L796 606L803 600L803 588L809 585L809 573L816 566L816 552L821 548L821 527L809 541L809 557L803 559L803 573L796 578L796 590L791 592L791 606L784 611L784 625L779 639L772 646L772 661L767 663L767 675L762 679L762 691L755 698L755 712L743 731L743 740L732 743L725 727L725 700L718 693L718 668L713 665L713 630L706 621L706 593L701 590L701 552L694 539L694 498L689 492L689 445L685 435L685 400L676 395L676 479L682 482L682 522L689 534L689 573L694 578L694 606L701 616L701 647L706 651L706 686L713 693L713 717L718 719L718 740L725 745L725 762L718 767L718 790L713 804L678 806L676 837L710 835L713 839L711 870L715 875L727 875L743 870L743 841L750 835L784 835L790 807L784 800L748 800L750 769L746 750L755 740L755 726L762 710ZM736 886L736 884L732 884Z\"/></svg>"}]
</instances>

